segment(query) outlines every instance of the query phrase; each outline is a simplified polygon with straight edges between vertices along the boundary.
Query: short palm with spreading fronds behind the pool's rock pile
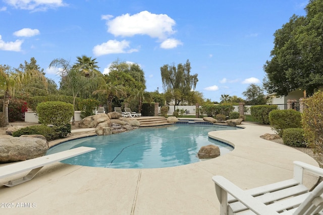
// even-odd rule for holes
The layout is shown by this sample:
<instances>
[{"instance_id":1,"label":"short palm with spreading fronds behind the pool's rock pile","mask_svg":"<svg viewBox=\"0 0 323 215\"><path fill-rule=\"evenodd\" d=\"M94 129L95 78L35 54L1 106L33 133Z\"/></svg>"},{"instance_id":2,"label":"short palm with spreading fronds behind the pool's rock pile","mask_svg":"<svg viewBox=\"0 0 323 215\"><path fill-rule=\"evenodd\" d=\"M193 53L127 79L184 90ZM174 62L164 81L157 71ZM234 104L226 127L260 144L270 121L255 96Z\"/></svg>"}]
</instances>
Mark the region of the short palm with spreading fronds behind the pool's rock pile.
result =
<instances>
[{"instance_id":1,"label":"short palm with spreading fronds behind the pool's rock pile","mask_svg":"<svg viewBox=\"0 0 323 215\"><path fill-rule=\"evenodd\" d=\"M112 85L111 83L101 85L98 90L94 91L93 94L105 95L107 100L107 111L112 112L112 100L117 97L127 96L125 87L122 85Z\"/></svg>"}]
</instances>

